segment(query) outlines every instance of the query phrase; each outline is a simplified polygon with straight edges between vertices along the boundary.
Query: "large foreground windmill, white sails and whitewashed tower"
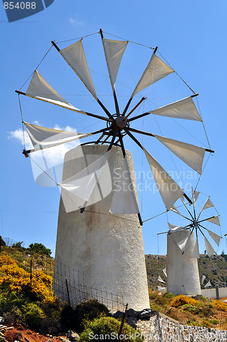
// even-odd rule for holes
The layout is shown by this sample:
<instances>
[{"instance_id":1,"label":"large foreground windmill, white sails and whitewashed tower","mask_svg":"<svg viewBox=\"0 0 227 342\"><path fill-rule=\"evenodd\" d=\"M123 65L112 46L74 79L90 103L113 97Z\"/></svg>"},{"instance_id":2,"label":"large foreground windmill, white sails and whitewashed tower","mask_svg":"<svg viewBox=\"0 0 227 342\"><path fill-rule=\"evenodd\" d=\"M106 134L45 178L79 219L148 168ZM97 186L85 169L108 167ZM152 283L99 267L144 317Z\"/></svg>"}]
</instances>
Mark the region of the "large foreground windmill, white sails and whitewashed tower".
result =
<instances>
[{"instance_id":1,"label":"large foreground windmill, white sails and whitewashed tower","mask_svg":"<svg viewBox=\"0 0 227 342\"><path fill-rule=\"evenodd\" d=\"M124 108L120 109L115 85L118 68L128 41L109 40L103 38L102 30L99 33L103 42L114 96L114 113L109 111L96 95L82 40L78 40L64 49L59 49L55 42L52 44L88 88L90 94L105 112L105 116L78 109L68 103L37 70L31 77L27 91L16 90L16 92L19 96L29 96L103 120L107 123L107 127L91 133L75 133L48 129L23 121L33 145L30 150L25 148L23 153L25 157L34 159L31 155L36 155L40 150L44 152L47 148L56 148L60 144L101 133L101 136L94 142L81 144L66 153L63 176L60 181L54 179L53 164L50 166L46 161L42 166L43 172L36 181L42 179L42 176L46 178L47 175L51 179L52 185L55 183L62 191L55 263L67 265L85 274L85 282L88 287L124 295L129 306L139 310L149 304L141 229L142 219L137 205L133 160L131 153L124 149L124 135L131 137L144 151L167 210L170 210L174 202L181 196L184 196L189 202L191 200L155 158L148 153L148 150L140 144L133 133L155 137L199 174L202 172L204 153L213 153L214 151L131 127L135 120L151 114L201 122L202 118L193 103L193 97L198 94L193 92L191 96L180 101L129 118L146 99L143 97L133 107L130 107L135 101L135 95L163 77L174 73L174 70L157 57L157 48L153 49L148 65L129 97L129 101ZM130 111L127 113L129 109ZM36 162L36 164L38 163ZM40 166L38 165L38 167ZM116 170L120 170L118 179L116 179ZM126 178L124 178L125 174ZM116 181L120 185L120 191L116 189ZM123 187L125 181L128 190ZM129 191L129 188L133 191ZM69 275L68 277L70 278ZM57 282L58 279L56 279Z\"/></svg>"}]
</instances>

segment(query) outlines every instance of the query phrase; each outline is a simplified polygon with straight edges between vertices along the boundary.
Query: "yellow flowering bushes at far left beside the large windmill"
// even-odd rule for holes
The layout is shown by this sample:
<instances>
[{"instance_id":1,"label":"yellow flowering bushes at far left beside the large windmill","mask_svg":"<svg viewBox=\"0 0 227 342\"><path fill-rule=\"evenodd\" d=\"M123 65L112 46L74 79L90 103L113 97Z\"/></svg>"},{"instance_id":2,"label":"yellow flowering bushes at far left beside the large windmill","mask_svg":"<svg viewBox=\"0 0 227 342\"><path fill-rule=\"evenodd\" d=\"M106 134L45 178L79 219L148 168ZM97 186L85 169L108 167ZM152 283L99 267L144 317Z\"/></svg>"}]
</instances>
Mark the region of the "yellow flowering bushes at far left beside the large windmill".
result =
<instances>
[{"instance_id":1,"label":"yellow flowering bushes at far left beside the large windmill","mask_svg":"<svg viewBox=\"0 0 227 342\"><path fill-rule=\"evenodd\" d=\"M52 278L42 271L29 272L19 267L13 259L7 255L0 257L0 287L8 286L10 291L14 291L25 297L33 297L44 304L52 304L55 301L53 296Z\"/></svg>"}]
</instances>

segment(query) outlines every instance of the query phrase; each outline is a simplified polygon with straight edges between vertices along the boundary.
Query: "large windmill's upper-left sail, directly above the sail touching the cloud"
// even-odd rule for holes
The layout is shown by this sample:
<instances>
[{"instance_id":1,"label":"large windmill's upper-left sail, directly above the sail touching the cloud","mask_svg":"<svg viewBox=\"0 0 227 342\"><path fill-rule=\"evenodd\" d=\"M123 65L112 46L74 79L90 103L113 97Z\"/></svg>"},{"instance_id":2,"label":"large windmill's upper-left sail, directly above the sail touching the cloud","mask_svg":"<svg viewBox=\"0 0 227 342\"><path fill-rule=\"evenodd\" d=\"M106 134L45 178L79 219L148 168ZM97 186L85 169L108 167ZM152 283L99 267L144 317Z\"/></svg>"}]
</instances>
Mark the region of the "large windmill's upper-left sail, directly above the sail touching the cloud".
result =
<instances>
[{"instance_id":1,"label":"large windmill's upper-left sail, directly above the sail touching the cloud","mask_svg":"<svg viewBox=\"0 0 227 342\"><path fill-rule=\"evenodd\" d=\"M44 80L37 70L34 71L25 94L41 101L53 103L53 105L59 105L60 107L83 113L83 111L73 105L70 105L68 101L59 95L58 92L56 92L56 90L54 90L49 83Z\"/></svg>"}]
</instances>

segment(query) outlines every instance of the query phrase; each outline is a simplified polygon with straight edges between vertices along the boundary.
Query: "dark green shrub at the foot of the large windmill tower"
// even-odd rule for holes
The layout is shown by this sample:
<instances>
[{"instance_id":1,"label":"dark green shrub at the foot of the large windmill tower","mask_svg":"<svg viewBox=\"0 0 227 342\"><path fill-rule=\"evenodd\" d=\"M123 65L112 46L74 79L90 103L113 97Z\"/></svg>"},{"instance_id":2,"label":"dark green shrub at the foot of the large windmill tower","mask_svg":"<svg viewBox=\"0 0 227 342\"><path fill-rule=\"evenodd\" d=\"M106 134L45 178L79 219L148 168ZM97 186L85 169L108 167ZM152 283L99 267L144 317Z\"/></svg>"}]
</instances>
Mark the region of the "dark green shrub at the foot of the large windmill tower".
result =
<instances>
[{"instance_id":1,"label":"dark green shrub at the foot of the large windmill tower","mask_svg":"<svg viewBox=\"0 0 227 342\"><path fill-rule=\"evenodd\" d=\"M85 329L86 322L90 322L101 315L108 315L109 310L97 300L88 300L78 304L75 309L65 306L61 314L62 327L71 328L77 332Z\"/></svg>"}]
</instances>

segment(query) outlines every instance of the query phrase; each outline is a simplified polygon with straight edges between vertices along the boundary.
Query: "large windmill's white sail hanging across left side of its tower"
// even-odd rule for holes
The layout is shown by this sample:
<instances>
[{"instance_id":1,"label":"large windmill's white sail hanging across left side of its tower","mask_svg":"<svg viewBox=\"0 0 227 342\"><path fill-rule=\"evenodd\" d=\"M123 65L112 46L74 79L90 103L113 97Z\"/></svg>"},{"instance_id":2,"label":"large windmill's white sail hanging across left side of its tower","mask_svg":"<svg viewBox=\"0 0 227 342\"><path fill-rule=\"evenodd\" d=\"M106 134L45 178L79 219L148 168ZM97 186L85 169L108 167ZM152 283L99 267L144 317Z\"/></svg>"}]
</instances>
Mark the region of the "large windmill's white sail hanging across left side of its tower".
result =
<instances>
[{"instance_id":1,"label":"large windmill's white sail hanging across left side of its tower","mask_svg":"<svg viewBox=\"0 0 227 342\"><path fill-rule=\"evenodd\" d=\"M98 202L111 192L111 176L107 162L108 152L99 157L77 174L57 185L62 188L62 199L66 213L84 209L86 205ZM102 178L102 181L100 181ZM96 185L98 191L94 191Z\"/></svg>"}]
</instances>

